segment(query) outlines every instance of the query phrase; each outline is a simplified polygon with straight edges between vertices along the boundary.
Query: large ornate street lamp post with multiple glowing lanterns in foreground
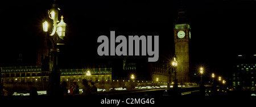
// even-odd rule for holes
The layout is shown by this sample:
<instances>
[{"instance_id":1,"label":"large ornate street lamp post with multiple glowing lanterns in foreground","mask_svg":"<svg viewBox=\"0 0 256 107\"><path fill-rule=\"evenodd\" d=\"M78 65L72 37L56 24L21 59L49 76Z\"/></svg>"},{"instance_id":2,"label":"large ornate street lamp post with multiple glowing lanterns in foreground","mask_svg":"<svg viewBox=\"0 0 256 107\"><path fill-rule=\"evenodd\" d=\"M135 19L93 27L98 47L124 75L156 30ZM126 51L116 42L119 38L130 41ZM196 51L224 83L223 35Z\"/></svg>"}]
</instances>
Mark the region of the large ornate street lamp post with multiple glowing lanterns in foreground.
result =
<instances>
[{"instance_id":1,"label":"large ornate street lamp post with multiple glowing lanterns in foreground","mask_svg":"<svg viewBox=\"0 0 256 107\"><path fill-rule=\"evenodd\" d=\"M56 2L56 1L55 1ZM59 22L59 8L57 8L56 3L53 3L51 10L48 11L49 18L52 21L52 32L50 35L48 35L48 27L49 24L46 20L43 22L43 31L46 32L46 38L48 38L51 41L52 44L52 71L49 75L49 94L50 95L60 95L60 71L57 69L57 53L59 52L59 49L57 49L57 44L63 40L65 36L65 28L67 26L66 23L63 21L63 16L61 16L61 20Z\"/></svg>"}]
</instances>

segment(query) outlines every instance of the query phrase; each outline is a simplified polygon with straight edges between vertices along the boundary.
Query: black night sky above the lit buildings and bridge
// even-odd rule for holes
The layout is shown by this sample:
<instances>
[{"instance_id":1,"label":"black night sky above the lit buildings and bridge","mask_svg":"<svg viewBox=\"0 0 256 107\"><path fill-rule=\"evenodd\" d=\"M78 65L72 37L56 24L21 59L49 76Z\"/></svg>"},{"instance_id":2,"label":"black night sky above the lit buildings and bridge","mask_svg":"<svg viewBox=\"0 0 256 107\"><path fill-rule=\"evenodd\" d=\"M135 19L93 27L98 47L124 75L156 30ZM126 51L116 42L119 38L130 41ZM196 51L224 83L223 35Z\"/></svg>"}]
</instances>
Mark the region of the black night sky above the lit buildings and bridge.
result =
<instances>
[{"instance_id":1,"label":"black night sky above the lit buildings and bridge","mask_svg":"<svg viewBox=\"0 0 256 107\"><path fill-rule=\"evenodd\" d=\"M42 20L53 1L5 1L1 3L0 66L35 65ZM174 53L177 1L57 1L67 23L64 65L76 67L95 62L98 36L158 35L159 57ZM238 54L256 54L256 2L184 0L191 25L192 67L226 72ZM116 44L117 45L117 44ZM81 64L82 63L82 64Z\"/></svg>"}]
</instances>

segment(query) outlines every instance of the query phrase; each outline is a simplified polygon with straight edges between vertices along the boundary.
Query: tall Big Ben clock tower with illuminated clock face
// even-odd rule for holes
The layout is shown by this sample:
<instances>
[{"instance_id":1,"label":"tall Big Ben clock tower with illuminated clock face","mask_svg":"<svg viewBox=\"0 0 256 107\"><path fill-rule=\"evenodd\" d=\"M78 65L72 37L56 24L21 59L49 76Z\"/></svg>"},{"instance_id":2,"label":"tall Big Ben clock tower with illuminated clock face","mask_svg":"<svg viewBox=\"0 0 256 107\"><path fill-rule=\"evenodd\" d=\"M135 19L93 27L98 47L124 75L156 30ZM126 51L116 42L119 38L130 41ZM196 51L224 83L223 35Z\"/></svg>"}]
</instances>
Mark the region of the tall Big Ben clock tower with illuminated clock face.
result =
<instances>
[{"instance_id":1,"label":"tall Big Ben clock tower with illuminated clock face","mask_svg":"<svg viewBox=\"0 0 256 107\"><path fill-rule=\"evenodd\" d=\"M177 57L177 82L190 82L189 77L189 42L191 27L188 24L184 10L179 10L174 25L175 55Z\"/></svg>"}]
</instances>

